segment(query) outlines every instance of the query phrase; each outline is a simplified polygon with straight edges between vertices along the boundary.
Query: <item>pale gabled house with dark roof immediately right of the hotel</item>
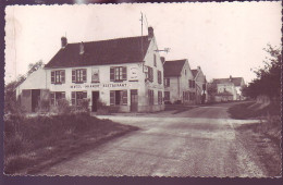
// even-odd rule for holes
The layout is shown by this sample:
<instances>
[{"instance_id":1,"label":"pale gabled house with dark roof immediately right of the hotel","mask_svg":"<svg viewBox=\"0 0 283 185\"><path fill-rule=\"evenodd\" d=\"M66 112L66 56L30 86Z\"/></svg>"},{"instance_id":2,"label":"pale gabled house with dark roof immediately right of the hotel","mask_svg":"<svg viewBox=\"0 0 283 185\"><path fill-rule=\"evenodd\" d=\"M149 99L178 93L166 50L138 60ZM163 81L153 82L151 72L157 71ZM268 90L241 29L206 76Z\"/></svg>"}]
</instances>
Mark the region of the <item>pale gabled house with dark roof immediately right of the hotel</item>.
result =
<instances>
[{"instance_id":1,"label":"pale gabled house with dark roof immediately right of the hotel","mask_svg":"<svg viewBox=\"0 0 283 185\"><path fill-rule=\"evenodd\" d=\"M164 102L195 103L196 85L187 59L164 62Z\"/></svg>"}]
</instances>

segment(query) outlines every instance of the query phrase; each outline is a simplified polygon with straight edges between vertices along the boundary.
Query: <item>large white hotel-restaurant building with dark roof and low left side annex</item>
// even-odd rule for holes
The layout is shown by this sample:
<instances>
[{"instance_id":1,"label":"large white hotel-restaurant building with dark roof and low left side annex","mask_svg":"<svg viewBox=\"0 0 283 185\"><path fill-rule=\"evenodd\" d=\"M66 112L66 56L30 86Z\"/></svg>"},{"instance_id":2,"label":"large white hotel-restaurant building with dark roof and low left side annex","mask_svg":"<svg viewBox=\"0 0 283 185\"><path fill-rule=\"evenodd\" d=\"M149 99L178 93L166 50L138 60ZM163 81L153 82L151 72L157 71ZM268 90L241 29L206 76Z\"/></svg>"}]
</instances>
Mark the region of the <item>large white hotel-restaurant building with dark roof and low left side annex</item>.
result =
<instances>
[{"instance_id":1,"label":"large white hotel-restaurant building with dark roof and low left side annex","mask_svg":"<svg viewBox=\"0 0 283 185\"><path fill-rule=\"evenodd\" d=\"M16 89L28 112L40 100L51 106L66 99L79 104L89 99L91 111L98 101L118 112L164 110L163 63L158 53L153 28L147 36L69 44L61 38L61 49Z\"/></svg>"}]
</instances>

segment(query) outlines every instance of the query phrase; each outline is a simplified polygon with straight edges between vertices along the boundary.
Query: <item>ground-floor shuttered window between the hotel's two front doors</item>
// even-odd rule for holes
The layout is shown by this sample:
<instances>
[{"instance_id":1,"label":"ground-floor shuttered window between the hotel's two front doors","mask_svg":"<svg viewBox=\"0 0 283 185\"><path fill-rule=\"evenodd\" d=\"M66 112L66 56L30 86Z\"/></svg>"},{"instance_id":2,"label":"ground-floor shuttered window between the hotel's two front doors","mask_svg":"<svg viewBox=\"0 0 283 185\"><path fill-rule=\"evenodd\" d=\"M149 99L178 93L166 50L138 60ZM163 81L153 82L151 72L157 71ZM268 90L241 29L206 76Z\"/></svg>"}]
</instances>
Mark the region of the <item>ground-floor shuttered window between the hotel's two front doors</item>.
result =
<instances>
[{"instance_id":1,"label":"ground-floor shuttered window between the hotel's two front doors","mask_svg":"<svg viewBox=\"0 0 283 185\"><path fill-rule=\"evenodd\" d=\"M127 106L127 90L111 90L110 106Z\"/></svg>"}]
</instances>

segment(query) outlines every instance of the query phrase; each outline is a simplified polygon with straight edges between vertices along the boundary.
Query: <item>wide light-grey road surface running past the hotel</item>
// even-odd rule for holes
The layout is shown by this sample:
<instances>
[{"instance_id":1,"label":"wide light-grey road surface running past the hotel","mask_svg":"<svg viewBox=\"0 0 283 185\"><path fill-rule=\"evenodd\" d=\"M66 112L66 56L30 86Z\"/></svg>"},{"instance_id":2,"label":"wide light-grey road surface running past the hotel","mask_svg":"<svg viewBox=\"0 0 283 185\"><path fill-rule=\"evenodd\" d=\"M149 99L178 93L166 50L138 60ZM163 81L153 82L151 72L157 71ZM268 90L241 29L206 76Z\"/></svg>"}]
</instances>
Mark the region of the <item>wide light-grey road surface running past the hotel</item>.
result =
<instances>
[{"instance_id":1,"label":"wide light-grey road surface running past the hotel","mask_svg":"<svg viewBox=\"0 0 283 185\"><path fill-rule=\"evenodd\" d=\"M45 175L264 176L263 165L235 137L234 126L255 121L229 118L231 104L177 114L100 116L140 127L47 169Z\"/></svg>"}]
</instances>

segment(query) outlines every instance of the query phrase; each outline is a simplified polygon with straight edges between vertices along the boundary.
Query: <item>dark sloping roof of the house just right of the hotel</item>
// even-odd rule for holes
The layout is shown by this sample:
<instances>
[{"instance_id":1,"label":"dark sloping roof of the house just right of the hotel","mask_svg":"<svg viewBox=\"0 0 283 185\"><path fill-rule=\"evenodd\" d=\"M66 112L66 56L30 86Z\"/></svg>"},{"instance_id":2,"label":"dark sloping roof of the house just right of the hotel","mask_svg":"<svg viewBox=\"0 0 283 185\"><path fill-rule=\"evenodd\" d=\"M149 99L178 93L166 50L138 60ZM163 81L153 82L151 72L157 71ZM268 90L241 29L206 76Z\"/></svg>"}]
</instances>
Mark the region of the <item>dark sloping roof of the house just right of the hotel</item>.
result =
<instances>
[{"instance_id":1,"label":"dark sloping roof of the house just right of the hotel","mask_svg":"<svg viewBox=\"0 0 283 185\"><path fill-rule=\"evenodd\" d=\"M164 77L180 76L185 63L186 63L186 59L165 61L163 65Z\"/></svg>"}]
</instances>

